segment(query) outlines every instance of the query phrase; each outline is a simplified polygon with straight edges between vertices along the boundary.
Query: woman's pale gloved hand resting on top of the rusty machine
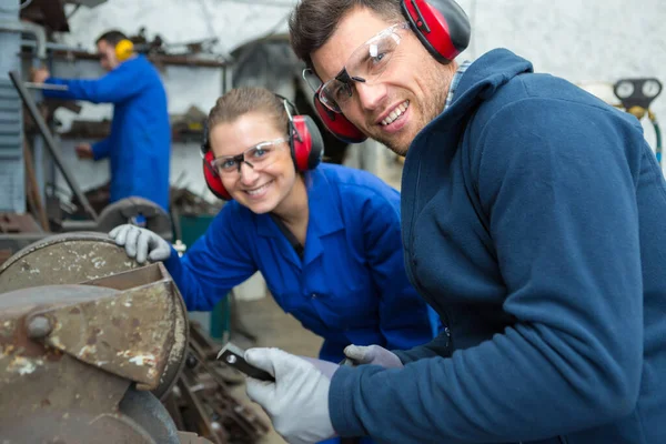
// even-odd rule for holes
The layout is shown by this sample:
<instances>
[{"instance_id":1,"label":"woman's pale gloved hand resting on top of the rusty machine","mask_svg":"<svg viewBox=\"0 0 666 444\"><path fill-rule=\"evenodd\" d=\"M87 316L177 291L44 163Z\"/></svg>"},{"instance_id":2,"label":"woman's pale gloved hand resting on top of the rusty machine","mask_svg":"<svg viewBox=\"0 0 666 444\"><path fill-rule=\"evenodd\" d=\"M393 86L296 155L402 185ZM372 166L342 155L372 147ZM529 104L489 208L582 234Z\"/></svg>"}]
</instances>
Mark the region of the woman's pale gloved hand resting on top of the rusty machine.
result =
<instances>
[{"instance_id":1,"label":"woman's pale gloved hand resting on top of the rusty machine","mask_svg":"<svg viewBox=\"0 0 666 444\"><path fill-rule=\"evenodd\" d=\"M137 258L137 262L145 262L145 258L151 262L165 261L171 255L169 242L160 238L150 230L137 225L118 225L109 232L109 236L115 240L115 243L125 248L130 258Z\"/></svg>"}]
</instances>

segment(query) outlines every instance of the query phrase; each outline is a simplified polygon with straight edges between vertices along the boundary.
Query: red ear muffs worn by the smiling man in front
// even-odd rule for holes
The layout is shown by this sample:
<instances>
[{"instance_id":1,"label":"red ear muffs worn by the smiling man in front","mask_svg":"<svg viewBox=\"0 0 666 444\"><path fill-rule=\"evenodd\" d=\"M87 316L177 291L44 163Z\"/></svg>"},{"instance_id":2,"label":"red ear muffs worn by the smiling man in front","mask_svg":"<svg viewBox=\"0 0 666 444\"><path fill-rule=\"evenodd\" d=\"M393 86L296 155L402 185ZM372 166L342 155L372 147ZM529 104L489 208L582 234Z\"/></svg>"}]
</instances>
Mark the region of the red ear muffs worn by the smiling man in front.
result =
<instances>
[{"instance_id":1,"label":"red ear muffs worn by the smiling man in front","mask_svg":"<svg viewBox=\"0 0 666 444\"><path fill-rule=\"evenodd\" d=\"M451 63L470 44L471 26L465 11L454 0L402 0L401 9L421 43L440 63ZM346 143L367 139L344 117L329 110L314 93L314 109L324 127Z\"/></svg>"}]
</instances>

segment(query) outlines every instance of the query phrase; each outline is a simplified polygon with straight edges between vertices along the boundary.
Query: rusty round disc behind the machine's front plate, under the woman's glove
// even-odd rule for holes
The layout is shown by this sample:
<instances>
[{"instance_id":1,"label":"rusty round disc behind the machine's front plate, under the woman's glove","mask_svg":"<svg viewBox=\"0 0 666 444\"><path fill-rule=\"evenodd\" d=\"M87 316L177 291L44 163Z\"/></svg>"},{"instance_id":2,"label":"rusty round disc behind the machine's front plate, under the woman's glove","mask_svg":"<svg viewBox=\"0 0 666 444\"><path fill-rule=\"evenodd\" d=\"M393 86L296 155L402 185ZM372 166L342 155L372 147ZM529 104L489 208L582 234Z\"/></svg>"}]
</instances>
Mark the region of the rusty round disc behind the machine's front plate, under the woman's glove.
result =
<instances>
[{"instance_id":1,"label":"rusty round disc behind the machine's front plate, under the woman's glove","mask_svg":"<svg viewBox=\"0 0 666 444\"><path fill-rule=\"evenodd\" d=\"M152 390L164 397L184 365L188 344L186 310L171 276L161 264L139 269L124 250L101 233L69 233L46 238L11 256L0 269L0 293L38 285L88 283L125 291L137 287L169 294L173 300L174 343L160 383ZM103 330L103 322L100 329Z\"/></svg>"}]
</instances>

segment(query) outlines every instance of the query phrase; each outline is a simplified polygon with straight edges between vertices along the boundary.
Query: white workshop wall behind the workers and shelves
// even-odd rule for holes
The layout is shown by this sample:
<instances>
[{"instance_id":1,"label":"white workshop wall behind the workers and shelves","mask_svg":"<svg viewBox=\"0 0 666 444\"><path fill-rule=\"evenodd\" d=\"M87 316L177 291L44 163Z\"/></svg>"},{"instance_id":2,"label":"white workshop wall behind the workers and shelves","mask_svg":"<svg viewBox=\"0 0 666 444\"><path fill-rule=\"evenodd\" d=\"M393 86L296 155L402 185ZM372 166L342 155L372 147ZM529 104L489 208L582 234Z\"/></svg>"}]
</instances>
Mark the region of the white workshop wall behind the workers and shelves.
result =
<instances>
[{"instance_id":1,"label":"white workshop wall behind the workers and shelves","mask_svg":"<svg viewBox=\"0 0 666 444\"><path fill-rule=\"evenodd\" d=\"M662 0L460 0L473 23L472 42L461 59L474 59L485 51L505 47L529 59L538 72L551 72L572 82L609 82L623 77L656 77L666 83L666 8ZM92 49L102 31L119 28L135 33L145 27L149 37L161 34L168 42L218 37L219 49L230 52L239 44L274 29L285 31L284 18L291 0L109 0L94 8L81 8L70 19L71 32L61 41ZM83 64L85 63L85 69ZM91 62L78 62L80 75L93 77ZM80 67L79 67L80 65ZM56 72L60 74L60 72ZM162 72L171 113L190 105L208 111L222 91L219 70L170 67ZM666 122L666 93L653 107ZM110 117L108 105L84 104L79 118ZM64 125L74 117L59 111ZM644 122L646 139L654 147L655 134ZM63 143L68 160L83 188L107 180L103 164L79 165L74 142ZM384 157L376 157L380 161ZM174 144L172 181L194 192L204 190L200 158L194 144Z\"/></svg>"}]
</instances>

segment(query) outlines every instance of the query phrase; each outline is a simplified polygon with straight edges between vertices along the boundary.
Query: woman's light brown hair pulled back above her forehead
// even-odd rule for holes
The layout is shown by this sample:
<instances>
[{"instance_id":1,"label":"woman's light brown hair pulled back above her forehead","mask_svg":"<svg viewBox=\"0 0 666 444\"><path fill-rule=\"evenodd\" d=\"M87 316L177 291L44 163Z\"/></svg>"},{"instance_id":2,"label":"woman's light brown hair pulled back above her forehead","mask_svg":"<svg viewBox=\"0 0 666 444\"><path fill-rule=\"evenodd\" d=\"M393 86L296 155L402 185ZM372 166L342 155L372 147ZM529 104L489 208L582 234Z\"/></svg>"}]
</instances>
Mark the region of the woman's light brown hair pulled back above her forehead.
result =
<instances>
[{"instance_id":1,"label":"woman's light brown hair pulled back above her forehead","mask_svg":"<svg viewBox=\"0 0 666 444\"><path fill-rule=\"evenodd\" d=\"M286 133L289 117L283 100L265 88L250 87L233 89L218 99L206 120L208 131L218 123L233 122L250 112L268 114Z\"/></svg>"}]
</instances>

